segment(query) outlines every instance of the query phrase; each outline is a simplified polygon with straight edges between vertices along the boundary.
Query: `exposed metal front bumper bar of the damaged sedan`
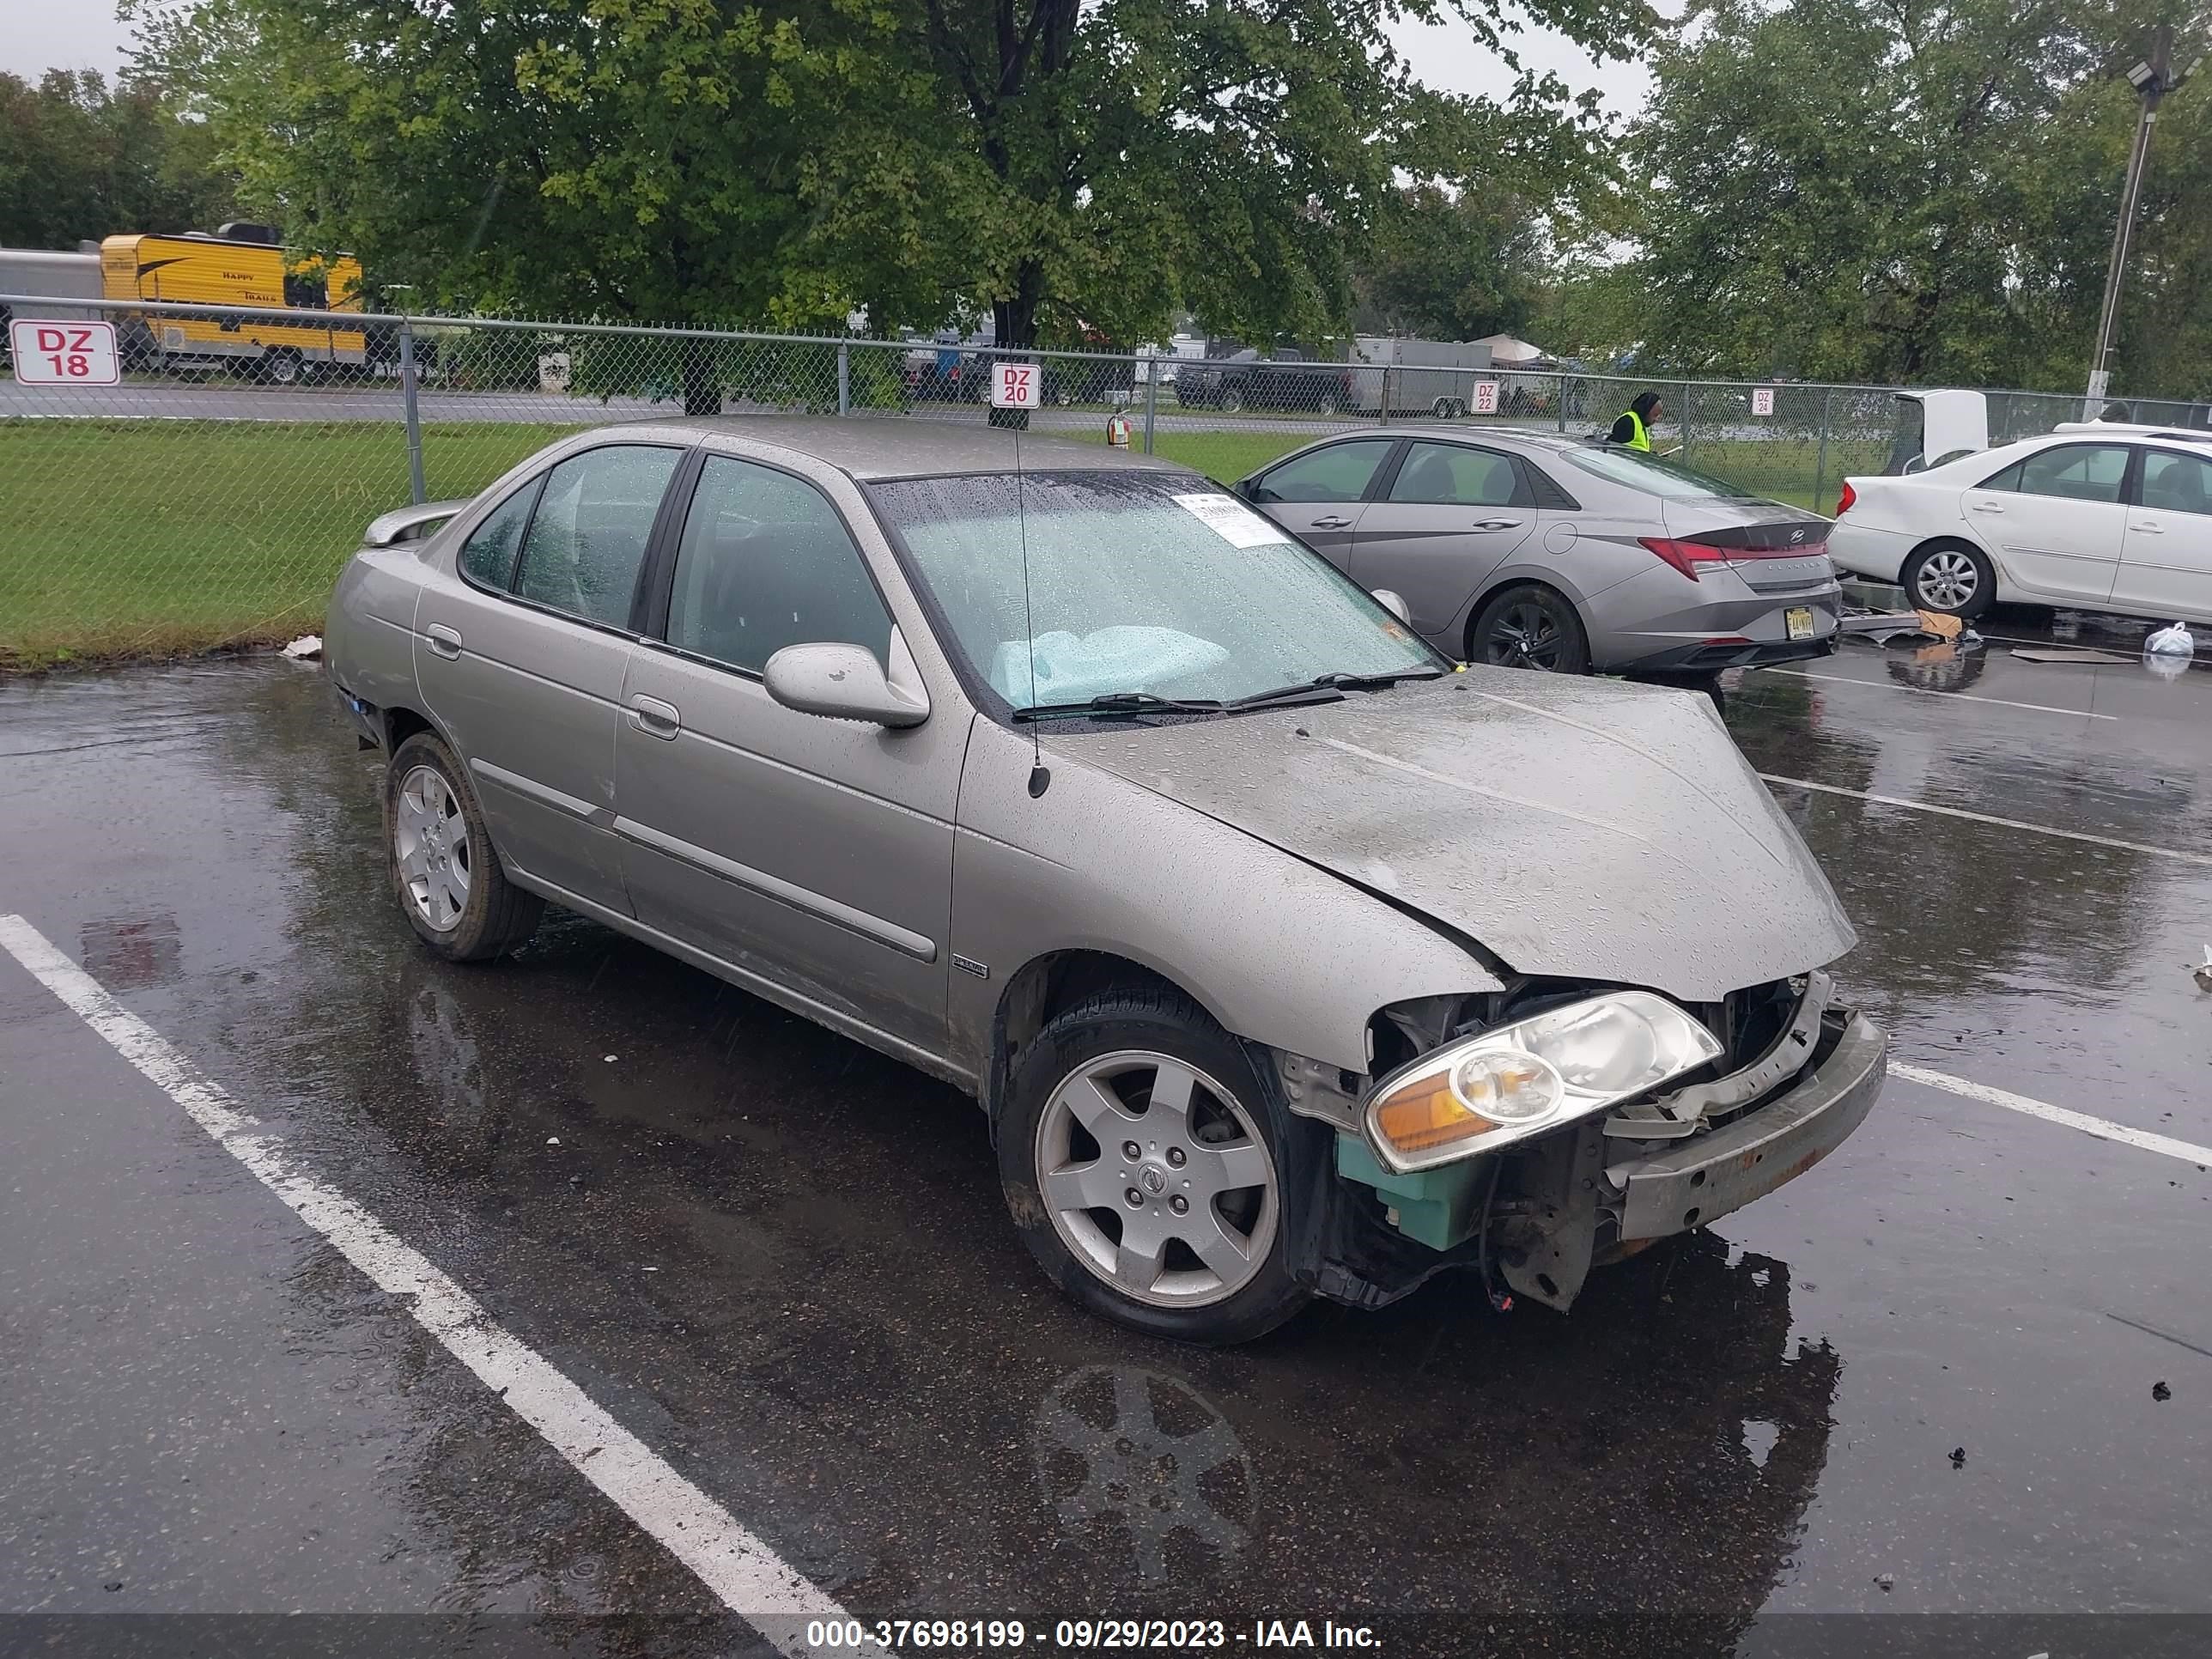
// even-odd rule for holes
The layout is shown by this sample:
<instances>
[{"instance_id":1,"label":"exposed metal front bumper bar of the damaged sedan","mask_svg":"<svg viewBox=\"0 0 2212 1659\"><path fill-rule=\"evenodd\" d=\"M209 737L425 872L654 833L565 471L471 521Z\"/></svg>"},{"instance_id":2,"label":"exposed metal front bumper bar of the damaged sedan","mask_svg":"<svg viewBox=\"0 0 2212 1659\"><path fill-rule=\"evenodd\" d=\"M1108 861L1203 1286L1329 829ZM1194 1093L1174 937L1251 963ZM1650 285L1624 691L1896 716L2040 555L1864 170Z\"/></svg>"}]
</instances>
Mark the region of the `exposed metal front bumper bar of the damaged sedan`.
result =
<instances>
[{"instance_id":1,"label":"exposed metal front bumper bar of the damaged sedan","mask_svg":"<svg viewBox=\"0 0 2212 1659\"><path fill-rule=\"evenodd\" d=\"M1787 1093L1663 1152L1606 1166L1624 1243L1741 1210L1849 1139L1882 1091L1889 1037L1863 1013L1836 1011L1820 1026L1814 1064Z\"/></svg>"}]
</instances>

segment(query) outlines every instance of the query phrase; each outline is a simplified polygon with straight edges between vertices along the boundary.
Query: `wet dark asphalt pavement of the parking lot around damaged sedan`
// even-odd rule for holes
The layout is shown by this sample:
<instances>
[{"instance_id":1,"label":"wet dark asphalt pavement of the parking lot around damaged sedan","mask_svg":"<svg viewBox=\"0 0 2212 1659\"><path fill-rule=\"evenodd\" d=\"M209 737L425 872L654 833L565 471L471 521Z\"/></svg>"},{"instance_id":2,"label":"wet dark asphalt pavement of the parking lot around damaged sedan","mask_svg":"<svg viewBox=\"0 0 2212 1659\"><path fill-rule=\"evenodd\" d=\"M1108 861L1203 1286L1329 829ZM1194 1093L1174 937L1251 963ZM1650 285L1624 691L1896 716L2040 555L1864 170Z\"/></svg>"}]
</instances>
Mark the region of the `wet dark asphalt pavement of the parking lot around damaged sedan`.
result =
<instances>
[{"instance_id":1,"label":"wet dark asphalt pavement of the parking lot around damaged sedan","mask_svg":"<svg viewBox=\"0 0 2212 1659\"><path fill-rule=\"evenodd\" d=\"M1774 790L1896 1060L2205 1146L2212 668L2057 635L2126 659L1849 646L1743 677L1728 721L1827 785ZM1798 1615L2044 1615L1986 1648L2026 1659L2084 1650L2057 1615L2212 1615L2190 1159L1891 1079L1836 1157L1568 1318L1444 1279L1192 1352L1048 1290L953 1091L575 918L425 956L314 668L0 686L0 914L863 1621L1785 1655L1984 1650ZM763 1650L9 956L0 1148L0 1613L445 1615L0 1648ZM2212 1617L2128 1632L2097 1650L2212 1648Z\"/></svg>"}]
</instances>

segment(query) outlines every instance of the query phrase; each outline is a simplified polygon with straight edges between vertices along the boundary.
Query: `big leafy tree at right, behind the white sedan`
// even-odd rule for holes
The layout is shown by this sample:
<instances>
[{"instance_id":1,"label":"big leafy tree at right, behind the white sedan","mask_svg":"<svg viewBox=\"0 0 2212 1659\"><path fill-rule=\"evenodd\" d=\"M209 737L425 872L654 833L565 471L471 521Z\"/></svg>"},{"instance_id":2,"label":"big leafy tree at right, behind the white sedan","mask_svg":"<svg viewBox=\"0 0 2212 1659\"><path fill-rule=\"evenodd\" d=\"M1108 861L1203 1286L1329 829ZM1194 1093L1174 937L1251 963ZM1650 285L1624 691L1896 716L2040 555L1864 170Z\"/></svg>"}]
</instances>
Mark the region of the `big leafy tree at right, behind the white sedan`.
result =
<instances>
[{"instance_id":1,"label":"big leafy tree at right, behind the white sedan","mask_svg":"<svg viewBox=\"0 0 2212 1659\"><path fill-rule=\"evenodd\" d=\"M2152 0L1719 0L1632 133L1652 361L2075 378ZM2084 321L2084 310L2088 319ZM2057 363L2073 369L2057 374Z\"/></svg>"}]
</instances>

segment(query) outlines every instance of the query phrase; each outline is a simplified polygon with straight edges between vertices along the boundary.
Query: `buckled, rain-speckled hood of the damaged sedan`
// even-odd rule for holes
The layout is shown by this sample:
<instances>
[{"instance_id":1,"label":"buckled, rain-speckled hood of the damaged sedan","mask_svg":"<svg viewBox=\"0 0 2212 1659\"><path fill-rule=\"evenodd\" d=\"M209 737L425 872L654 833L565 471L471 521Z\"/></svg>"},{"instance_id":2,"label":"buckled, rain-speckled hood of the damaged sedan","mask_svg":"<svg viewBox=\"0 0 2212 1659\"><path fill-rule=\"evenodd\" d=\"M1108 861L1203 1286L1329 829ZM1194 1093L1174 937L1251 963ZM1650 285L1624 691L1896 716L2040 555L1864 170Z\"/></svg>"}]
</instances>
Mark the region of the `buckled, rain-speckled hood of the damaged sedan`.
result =
<instances>
[{"instance_id":1,"label":"buckled, rain-speckled hood of the damaged sedan","mask_svg":"<svg viewBox=\"0 0 2212 1659\"><path fill-rule=\"evenodd\" d=\"M1686 1002L1856 942L1705 697L1467 668L1340 703L1046 732L1471 938L1522 973Z\"/></svg>"}]
</instances>

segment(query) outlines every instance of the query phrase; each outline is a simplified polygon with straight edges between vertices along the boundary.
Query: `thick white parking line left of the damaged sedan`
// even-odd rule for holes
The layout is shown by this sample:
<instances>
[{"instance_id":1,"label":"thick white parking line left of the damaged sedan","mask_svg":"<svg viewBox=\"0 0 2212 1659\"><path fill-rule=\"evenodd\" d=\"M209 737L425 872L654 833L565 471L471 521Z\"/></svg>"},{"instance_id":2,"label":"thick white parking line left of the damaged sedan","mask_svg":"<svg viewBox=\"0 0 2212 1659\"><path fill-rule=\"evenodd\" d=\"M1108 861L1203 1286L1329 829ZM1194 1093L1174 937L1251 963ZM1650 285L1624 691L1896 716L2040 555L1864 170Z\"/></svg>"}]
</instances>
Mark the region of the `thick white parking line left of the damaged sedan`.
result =
<instances>
[{"instance_id":1,"label":"thick white parking line left of the damaged sedan","mask_svg":"<svg viewBox=\"0 0 2212 1659\"><path fill-rule=\"evenodd\" d=\"M476 1371L577 1473L699 1575L721 1604L785 1655L805 1655L807 1619L847 1619L838 1601L776 1555L730 1511L692 1486L535 1349L500 1329L482 1305L376 1217L285 1164L259 1119L62 956L22 916L0 916L0 947L124 1060L190 1113L239 1164L299 1212L378 1290L414 1298L416 1323Z\"/></svg>"}]
</instances>

